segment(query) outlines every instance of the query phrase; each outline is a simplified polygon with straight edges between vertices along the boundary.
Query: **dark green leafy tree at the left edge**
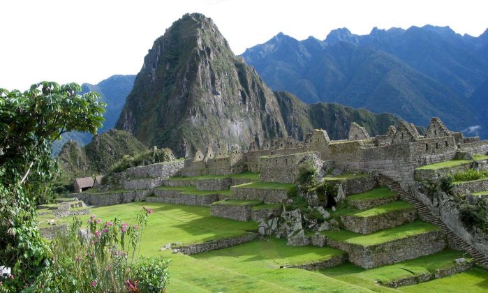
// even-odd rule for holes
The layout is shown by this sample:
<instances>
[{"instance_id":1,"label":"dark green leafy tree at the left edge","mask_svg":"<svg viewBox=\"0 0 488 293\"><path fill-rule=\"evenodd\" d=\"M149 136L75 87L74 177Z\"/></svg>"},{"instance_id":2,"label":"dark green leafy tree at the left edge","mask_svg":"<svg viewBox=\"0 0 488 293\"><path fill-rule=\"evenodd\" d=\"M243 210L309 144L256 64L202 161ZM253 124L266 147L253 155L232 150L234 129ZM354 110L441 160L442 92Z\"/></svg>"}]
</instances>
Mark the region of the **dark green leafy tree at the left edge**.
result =
<instances>
[{"instance_id":1,"label":"dark green leafy tree at the left edge","mask_svg":"<svg viewBox=\"0 0 488 293\"><path fill-rule=\"evenodd\" d=\"M36 203L52 196L57 165L52 142L71 130L96 133L105 103L78 84L33 84L0 89L0 265L13 268L10 286L23 287L49 262L37 227ZM5 284L5 283L4 283Z\"/></svg>"}]
</instances>

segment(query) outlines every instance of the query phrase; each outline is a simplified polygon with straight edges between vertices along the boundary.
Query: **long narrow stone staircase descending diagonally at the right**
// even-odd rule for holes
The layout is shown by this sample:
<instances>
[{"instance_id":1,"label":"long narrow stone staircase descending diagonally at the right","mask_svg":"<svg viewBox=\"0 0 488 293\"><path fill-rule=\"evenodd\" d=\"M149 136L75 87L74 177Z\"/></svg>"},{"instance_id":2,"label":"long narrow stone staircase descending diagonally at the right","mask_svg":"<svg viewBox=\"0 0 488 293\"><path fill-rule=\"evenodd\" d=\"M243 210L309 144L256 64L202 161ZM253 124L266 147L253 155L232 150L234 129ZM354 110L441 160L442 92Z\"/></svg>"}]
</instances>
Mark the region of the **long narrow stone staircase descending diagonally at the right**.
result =
<instances>
[{"instance_id":1,"label":"long narrow stone staircase descending diagonally at the right","mask_svg":"<svg viewBox=\"0 0 488 293\"><path fill-rule=\"evenodd\" d=\"M404 188L401 188L400 184L397 181L394 181L393 179L390 179L383 174L379 174L378 183L381 186L388 186L391 190L398 193L402 200L413 204L418 213L420 213L422 219L427 220L429 223L437 225L438 227L441 227L443 232L448 236L450 243L454 243L455 246L461 248L462 250L465 250L470 255L472 255L476 264L488 268L488 257L485 257L485 255L473 248L473 246L469 245L468 243L466 243L466 241L454 234L454 232L452 232L449 227L445 225L439 218L432 215L430 209L427 206L420 202L420 200L417 200L415 197L413 197L410 193L407 193Z\"/></svg>"}]
</instances>

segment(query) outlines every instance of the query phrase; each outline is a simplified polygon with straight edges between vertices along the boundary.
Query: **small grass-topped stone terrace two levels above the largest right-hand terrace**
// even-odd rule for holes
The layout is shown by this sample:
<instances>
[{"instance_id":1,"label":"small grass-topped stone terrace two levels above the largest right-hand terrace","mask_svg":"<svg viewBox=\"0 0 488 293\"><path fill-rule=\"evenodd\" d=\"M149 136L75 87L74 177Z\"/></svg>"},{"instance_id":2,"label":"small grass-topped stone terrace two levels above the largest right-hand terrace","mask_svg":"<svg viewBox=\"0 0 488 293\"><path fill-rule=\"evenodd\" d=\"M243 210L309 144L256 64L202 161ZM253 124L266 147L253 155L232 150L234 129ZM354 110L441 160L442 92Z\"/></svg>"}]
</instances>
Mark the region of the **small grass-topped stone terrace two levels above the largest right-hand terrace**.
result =
<instances>
[{"instance_id":1,"label":"small grass-topped stone terrace two levels above the largest right-hand terrace","mask_svg":"<svg viewBox=\"0 0 488 293\"><path fill-rule=\"evenodd\" d=\"M357 193L346 197L346 200L351 206L361 210L371 209L374 206L394 202L398 199L398 194L389 188L375 188L365 193Z\"/></svg>"}]
</instances>

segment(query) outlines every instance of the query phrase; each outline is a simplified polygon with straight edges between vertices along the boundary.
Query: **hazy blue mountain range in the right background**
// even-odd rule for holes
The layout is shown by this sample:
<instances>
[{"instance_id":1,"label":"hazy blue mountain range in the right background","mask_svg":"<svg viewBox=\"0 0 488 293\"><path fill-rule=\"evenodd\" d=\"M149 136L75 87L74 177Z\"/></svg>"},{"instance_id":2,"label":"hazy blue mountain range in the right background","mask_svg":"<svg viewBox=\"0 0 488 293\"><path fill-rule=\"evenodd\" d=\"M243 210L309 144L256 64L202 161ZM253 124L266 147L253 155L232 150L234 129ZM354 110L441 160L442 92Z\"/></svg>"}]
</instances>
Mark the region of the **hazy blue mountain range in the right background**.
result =
<instances>
[{"instance_id":1,"label":"hazy blue mountain range in the right background","mask_svg":"<svg viewBox=\"0 0 488 293\"><path fill-rule=\"evenodd\" d=\"M487 79L487 44L488 33L460 36L448 27L374 29L367 36L337 29L323 41L279 33L242 57L272 89L306 103L390 112L424 126L438 116L462 130L488 122L468 100Z\"/></svg>"}]
</instances>

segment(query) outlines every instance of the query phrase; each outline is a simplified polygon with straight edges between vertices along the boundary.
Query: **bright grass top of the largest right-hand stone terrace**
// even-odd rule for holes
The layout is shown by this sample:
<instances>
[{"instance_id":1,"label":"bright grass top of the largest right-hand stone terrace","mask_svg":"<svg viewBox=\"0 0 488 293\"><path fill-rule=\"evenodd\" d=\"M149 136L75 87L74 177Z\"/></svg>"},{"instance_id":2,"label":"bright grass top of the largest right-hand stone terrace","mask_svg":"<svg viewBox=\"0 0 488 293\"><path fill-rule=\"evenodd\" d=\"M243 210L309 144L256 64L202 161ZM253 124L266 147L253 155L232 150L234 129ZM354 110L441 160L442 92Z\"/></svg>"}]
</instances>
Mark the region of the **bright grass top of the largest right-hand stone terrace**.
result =
<instances>
[{"instance_id":1,"label":"bright grass top of the largest right-hand stone terrace","mask_svg":"<svg viewBox=\"0 0 488 293\"><path fill-rule=\"evenodd\" d=\"M393 227L385 230L380 230L371 234L363 235L359 233L354 233L346 230L340 231L325 231L322 232L330 239L336 241L343 241L346 243L357 244L360 246L372 246L379 243L385 243L388 241L393 241L396 239L403 239L408 236L414 236L417 234L423 234L431 231L440 230L439 227L416 221L414 223L401 225L398 227Z\"/></svg>"}]
</instances>

